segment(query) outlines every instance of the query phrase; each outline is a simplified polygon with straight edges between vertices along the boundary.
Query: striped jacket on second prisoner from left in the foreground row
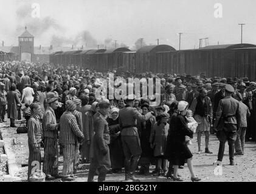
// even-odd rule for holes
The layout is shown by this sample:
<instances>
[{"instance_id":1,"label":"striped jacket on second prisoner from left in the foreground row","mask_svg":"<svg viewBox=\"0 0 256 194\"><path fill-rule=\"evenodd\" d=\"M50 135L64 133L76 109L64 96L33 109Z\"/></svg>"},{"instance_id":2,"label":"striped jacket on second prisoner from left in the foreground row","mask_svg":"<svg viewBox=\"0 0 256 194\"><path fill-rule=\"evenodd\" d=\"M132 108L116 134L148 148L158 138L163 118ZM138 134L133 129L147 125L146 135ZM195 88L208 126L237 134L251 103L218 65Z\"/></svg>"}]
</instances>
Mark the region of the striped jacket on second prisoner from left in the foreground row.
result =
<instances>
[{"instance_id":1,"label":"striped jacket on second prisoner from left in the foreground row","mask_svg":"<svg viewBox=\"0 0 256 194\"><path fill-rule=\"evenodd\" d=\"M42 124L44 138L58 138L57 121L52 107L46 109Z\"/></svg>"}]
</instances>

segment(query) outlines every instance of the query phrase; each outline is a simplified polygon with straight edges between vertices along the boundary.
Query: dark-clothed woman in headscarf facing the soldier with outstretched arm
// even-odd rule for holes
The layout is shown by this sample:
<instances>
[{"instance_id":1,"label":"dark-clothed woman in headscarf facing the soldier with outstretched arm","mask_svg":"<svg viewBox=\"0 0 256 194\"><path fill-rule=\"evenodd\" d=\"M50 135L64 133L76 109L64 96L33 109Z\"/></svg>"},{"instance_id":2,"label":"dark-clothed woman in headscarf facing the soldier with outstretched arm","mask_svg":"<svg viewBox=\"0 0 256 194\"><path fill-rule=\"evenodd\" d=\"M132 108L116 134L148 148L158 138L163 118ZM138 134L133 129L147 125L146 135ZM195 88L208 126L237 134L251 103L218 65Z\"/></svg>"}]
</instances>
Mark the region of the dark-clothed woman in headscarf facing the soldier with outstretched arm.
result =
<instances>
[{"instance_id":1,"label":"dark-clothed woman in headscarf facing the soldier with outstretched arm","mask_svg":"<svg viewBox=\"0 0 256 194\"><path fill-rule=\"evenodd\" d=\"M150 107L148 104L144 104L141 107L142 115L146 115L150 112ZM140 147L142 149L142 154L140 155L139 165L140 165L140 175L150 174L150 163L153 159L153 149L150 145L150 133L151 129L156 122L156 118L151 115L147 121L138 122L138 133L140 138Z\"/></svg>"}]
</instances>

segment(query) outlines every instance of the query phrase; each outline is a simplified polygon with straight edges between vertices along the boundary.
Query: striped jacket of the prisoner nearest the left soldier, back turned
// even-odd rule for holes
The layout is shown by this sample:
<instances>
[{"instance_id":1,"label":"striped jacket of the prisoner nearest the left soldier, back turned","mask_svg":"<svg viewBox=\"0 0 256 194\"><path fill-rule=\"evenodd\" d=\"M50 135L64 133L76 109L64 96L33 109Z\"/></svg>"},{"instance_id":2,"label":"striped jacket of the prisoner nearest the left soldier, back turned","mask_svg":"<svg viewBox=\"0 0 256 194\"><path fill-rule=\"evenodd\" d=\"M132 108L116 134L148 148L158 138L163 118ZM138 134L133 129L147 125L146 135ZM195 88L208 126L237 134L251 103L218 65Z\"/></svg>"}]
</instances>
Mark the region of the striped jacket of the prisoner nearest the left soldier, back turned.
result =
<instances>
[{"instance_id":1,"label":"striped jacket of the prisoner nearest the left soldier, back turned","mask_svg":"<svg viewBox=\"0 0 256 194\"><path fill-rule=\"evenodd\" d=\"M66 111L60 117L60 144L75 144L83 139L83 133L78 127L77 119L72 112Z\"/></svg>"}]
</instances>

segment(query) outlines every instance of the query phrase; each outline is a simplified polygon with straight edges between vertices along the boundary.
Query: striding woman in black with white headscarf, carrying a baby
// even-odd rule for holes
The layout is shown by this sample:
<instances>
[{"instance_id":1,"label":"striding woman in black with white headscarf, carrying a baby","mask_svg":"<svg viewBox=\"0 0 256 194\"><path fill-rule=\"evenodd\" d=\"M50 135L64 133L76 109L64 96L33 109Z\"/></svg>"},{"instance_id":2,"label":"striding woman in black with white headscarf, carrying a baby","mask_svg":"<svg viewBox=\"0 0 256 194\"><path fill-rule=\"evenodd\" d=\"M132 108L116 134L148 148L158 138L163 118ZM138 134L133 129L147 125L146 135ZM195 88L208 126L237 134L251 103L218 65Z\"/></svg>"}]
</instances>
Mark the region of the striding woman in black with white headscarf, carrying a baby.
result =
<instances>
[{"instance_id":1,"label":"striding woman in black with white headscarf, carrying a baby","mask_svg":"<svg viewBox=\"0 0 256 194\"><path fill-rule=\"evenodd\" d=\"M173 178L174 181L183 181L178 177L178 167L184 166L185 160L187 159L187 166L189 167L191 173L192 181L200 181L193 173L193 164L192 164L192 153L187 147L185 142L185 136L190 136L193 138L193 132L187 127L187 122L185 120L185 115L187 113L189 103L185 101L179 101L178 104L178 115L171 116L170 119L170 141L168 146L170 156L170 162L173 164L174 172Z\"/></svg>"}]
</instances>

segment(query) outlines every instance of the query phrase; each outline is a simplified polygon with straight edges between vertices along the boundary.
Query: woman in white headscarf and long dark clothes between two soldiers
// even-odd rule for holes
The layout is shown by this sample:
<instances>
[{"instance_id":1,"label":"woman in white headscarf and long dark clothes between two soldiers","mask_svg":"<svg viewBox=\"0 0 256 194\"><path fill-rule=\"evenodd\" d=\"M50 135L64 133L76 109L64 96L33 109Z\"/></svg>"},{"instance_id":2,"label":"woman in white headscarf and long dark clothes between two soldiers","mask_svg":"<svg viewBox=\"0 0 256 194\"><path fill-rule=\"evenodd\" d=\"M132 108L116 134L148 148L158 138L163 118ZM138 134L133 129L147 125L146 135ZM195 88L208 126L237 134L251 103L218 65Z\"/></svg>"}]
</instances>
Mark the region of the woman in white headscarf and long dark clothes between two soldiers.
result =
<instances>
[{"instance_id":1,"label":"woman in white headscarf and long dark clothes between two soldiers","mask_svg":"<svg viewBox=\"0 0 256 194\"><path fill-rule=\"evenodd\" d=\"M110 152L110 160L111 160L111 168L112 173L122 173L123 167L123 147L121 140L121 129L119 125L118 119L119 109L113 107L110 110L110 115L106 119L108 121L108 127L110 132L110 144L109 144L109 152Z\"/></svg>"}]
</instances>

